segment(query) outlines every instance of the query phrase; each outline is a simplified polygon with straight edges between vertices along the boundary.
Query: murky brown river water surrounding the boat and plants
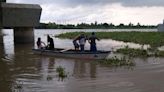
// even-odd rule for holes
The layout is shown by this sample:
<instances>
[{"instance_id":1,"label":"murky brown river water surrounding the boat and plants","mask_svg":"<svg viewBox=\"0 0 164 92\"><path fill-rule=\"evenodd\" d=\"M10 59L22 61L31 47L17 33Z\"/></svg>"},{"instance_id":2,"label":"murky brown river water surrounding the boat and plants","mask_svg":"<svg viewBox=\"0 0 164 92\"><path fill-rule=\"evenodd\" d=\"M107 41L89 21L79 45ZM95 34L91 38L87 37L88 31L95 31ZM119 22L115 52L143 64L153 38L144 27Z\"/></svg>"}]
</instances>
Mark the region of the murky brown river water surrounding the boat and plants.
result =
<instances>
[{"instance_id":1,"label":"murky brown river water surrounding the boat and plants","mask_svg":"<svg viewBox=\"0 0 164 92\"><path fill-rule=\"evenodd\" d=\"M35 42L46 35L53 37L55 47L73 48L72 40L54 36L72 31L156 31L156 29L36 29ZM0 92L164 92L164 58L134 58L133 67L109 67L94 61L65 59L34 55L36 45L14 44L13 30L3 30L0 45ZM140 48L139 44L101 39L97 48L111 50L128 45ZM144 48L147 48L145 45ZM86 44L89 49L89 44ZM67 77L59 80L56 68L62 66Z\"/></svg>"}]
</instances>

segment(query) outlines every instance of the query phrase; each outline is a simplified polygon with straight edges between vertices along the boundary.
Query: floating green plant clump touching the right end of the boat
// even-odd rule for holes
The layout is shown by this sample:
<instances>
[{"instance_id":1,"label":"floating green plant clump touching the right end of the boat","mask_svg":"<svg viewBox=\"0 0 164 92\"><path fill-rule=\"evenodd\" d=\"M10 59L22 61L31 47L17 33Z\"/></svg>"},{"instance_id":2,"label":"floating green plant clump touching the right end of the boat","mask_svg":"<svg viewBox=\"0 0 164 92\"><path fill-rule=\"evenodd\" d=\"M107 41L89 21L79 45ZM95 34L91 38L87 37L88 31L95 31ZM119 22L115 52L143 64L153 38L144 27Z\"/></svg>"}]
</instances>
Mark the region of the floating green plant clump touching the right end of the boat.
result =
<instances>
[{"instance_id":1,"label":"floating green plant clump touching the right end of the boat","mask_svg":"<svg viewBox=\"0 0 164 92\"><path fill-rule=\"evenodd\" d=\"M109 66L134 66L135 63L130 59L126 59L125 57L118 59L117 57L113 57L106 60L99 60L98 64L100 65L109 65Z\"/></svg>"}]
</instances>

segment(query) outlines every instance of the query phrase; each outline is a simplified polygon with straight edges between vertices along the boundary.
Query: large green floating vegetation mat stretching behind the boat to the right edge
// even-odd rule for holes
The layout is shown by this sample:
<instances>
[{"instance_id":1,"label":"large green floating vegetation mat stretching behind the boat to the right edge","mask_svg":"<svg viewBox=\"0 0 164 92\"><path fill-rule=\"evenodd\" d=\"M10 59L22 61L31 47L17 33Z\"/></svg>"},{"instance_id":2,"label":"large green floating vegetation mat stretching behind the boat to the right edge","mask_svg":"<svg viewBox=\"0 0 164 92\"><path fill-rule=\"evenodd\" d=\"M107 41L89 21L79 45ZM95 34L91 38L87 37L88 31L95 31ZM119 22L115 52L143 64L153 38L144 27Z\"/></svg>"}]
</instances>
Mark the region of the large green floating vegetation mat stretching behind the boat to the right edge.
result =
<instances>
[{"instance_id":1,"label":"large green floating vegetation mat stretching behind the boat to the right edge","mask_svg":"<svg viewBox=\"0 0 164 92\"><path fill-rule=\"evenodd\" d=\"M81 32L69 32L56 37L73 39ZM86 32L90 35L90 32ZM124 42L134 42L138 44L149 44L152 48L164 45L164 32L96 32L100 39L113 39Z\"/></svg>"}]
</instances>

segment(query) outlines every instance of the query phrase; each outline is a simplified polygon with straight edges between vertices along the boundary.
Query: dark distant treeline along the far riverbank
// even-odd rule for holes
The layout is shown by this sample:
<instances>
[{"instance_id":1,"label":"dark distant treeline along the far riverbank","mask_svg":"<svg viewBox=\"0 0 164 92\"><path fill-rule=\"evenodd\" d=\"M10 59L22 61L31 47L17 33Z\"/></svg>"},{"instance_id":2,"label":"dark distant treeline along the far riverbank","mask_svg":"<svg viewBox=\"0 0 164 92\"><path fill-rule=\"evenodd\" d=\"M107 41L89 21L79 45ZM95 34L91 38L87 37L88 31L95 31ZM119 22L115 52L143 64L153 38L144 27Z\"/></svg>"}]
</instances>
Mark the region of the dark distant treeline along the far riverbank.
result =
<instances>
[{"instance_id":1,"label":"dark distant treeline along the far riverbank","mask_svg":"<svg viewBox=\"0 0 164 92\"><path fill-rule=\"evenodd\" d=\"M40 23L37 29L139 29L139 28L157 28L156 25L140 25L138 23L137 25L134 25L132 23L129 23L128 25L125 25L123 23L120 23L119 25L114 25L112 23L80 23L77 25L73 24L56 24L56 23Z\"/></svg>"}]
</instances>

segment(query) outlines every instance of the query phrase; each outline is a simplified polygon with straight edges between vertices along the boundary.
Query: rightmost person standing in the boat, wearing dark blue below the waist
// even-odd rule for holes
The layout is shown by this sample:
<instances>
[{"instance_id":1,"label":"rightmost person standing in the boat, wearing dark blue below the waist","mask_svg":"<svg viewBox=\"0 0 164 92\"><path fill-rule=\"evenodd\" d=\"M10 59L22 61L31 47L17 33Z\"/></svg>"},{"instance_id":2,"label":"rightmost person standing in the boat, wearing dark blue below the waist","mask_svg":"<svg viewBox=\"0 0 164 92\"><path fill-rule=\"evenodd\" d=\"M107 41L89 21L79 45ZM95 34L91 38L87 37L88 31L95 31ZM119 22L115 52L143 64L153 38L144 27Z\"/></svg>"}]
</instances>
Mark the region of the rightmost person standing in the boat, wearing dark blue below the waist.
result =
<instances>
[{"instance_id":1,"label":"rightmost person standing in the boat, wearing dark blue below the waist","mask_svg":"<svg viewBox=\"0 0 164 92\"><path fill-rule=\"evenodd\" d=\"M100 39L96 37L94 32L92 32L91 37L88 38L88 42L90 43L90 51L91 52L96 52L97 51L96 40L99 41Z\"/></svg>"}]
</instances>

